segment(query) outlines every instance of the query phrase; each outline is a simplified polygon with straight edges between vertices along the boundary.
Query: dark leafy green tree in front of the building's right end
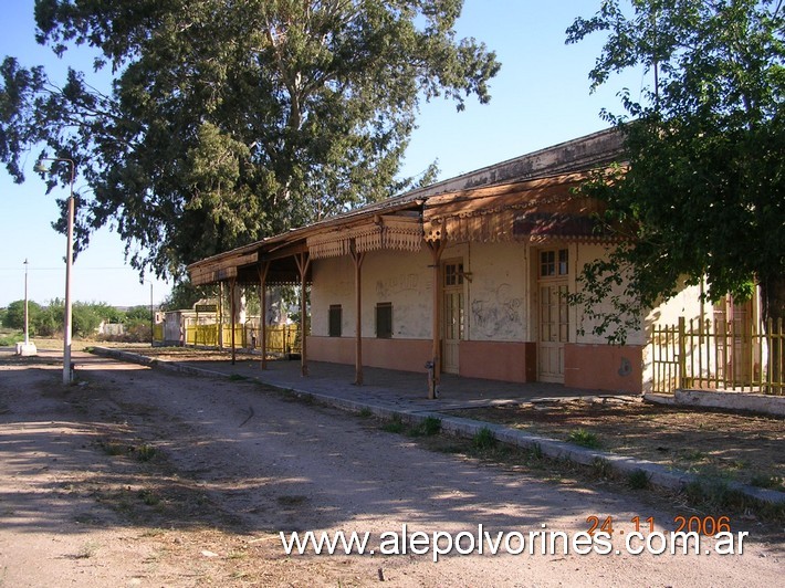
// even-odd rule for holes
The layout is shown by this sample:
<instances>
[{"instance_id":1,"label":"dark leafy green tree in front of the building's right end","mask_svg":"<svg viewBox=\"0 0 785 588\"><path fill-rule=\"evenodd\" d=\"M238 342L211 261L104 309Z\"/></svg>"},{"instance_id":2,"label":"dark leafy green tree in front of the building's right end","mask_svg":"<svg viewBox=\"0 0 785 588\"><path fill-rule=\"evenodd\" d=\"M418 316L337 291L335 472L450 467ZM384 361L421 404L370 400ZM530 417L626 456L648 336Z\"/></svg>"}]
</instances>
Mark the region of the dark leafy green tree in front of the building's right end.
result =
<instances>
[{"instance_id":1,"label":"dark leafy green tree in front of the building's right end","mask_svg":"<svg viewBox=\"0 0 785 588\"><path fill-rule=\"evenodd\" d=\"M584 302L617 302L620 312L597 322L611 338L636 311L703 276L712 300L749 297L757 283L764 316L785 316L783 10L781 0L604 0L567 30L571 43L605 35L593 88L629 67L651 81L620 93L622 114L604 112L625 135L629 167L589 187L627 231L610 261L584 273Z\"/></svg>"}]
</instances>

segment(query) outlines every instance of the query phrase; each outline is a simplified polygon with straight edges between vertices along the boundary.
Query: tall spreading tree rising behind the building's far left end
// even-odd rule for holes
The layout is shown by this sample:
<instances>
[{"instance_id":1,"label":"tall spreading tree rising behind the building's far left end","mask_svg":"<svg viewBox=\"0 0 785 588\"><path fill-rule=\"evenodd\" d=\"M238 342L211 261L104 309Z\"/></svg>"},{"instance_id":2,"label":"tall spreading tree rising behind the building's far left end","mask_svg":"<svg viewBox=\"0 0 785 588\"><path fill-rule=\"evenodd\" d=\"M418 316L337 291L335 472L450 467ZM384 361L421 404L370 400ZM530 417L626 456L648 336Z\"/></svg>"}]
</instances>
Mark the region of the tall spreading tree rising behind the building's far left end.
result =
<instances>
[{"instance_id":1,"label":"tall spreading tree rising behind the building's far left end","mask_svg":"<svg viewBox=\"0 0 785 588\"><path fill-rule=\"evenodd\" d=\"M77 238L109 224L159 275L375 201L397 180L418 104L490 98L499 64L456 38L462 0L36 0L38 40L88 45L64 84L1 66L0 159L73 159ZM59 165L50 187L66 183ZM81 182L80 182L81 183ZM63 220L57 223L63 229Z\"/></svg>"}]
</instances>

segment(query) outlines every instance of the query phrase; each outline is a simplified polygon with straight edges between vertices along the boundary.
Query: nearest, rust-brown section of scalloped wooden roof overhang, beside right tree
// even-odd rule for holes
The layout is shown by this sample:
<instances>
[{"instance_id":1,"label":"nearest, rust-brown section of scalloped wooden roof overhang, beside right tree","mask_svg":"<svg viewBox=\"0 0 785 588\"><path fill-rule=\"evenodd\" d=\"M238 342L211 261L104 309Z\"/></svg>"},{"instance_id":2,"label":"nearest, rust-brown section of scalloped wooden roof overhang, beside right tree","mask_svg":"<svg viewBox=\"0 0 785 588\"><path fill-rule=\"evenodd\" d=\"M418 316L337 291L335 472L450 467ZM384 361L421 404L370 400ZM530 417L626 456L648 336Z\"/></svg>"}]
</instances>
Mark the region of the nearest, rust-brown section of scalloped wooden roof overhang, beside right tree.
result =
<instances>
[{"instance_id":1,"label":"nearest, rust-brown section of scalloped wooden roof overhang, beside right tree","mask_svg":"<svg viewBox=\"0 0 785 588\"><path fill-rule=\"evenodd\" d=\"M576 193L589 172L433 196L425 204L427 241L584 241L610 242L616 237L597 216L601 201Z\"/></svg>"}]
</instances>

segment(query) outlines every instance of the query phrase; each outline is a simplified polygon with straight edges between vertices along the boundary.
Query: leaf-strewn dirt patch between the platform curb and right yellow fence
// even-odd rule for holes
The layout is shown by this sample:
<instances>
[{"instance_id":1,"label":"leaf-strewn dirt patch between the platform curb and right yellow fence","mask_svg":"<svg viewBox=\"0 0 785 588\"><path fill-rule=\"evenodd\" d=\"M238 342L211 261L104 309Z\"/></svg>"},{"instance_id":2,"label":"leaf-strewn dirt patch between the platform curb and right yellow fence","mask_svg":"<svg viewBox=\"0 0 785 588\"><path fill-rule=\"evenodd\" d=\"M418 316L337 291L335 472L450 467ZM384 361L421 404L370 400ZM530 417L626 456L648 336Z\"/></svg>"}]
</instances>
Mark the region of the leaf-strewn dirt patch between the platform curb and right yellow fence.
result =
<instances>
[{"instance_id":1,"label":"leaf-strewn dirt patch between the platform curb and right yellow fence","mask_svg":"<svg viewBox=\"0 0 785 588\"><path fill-rule=\"evenodd\" d=\"M583 430L595 435L601 450L785 491L782 417L621 399L530 402L457 413L565 441Z\"/></svg>"}]
</instances>

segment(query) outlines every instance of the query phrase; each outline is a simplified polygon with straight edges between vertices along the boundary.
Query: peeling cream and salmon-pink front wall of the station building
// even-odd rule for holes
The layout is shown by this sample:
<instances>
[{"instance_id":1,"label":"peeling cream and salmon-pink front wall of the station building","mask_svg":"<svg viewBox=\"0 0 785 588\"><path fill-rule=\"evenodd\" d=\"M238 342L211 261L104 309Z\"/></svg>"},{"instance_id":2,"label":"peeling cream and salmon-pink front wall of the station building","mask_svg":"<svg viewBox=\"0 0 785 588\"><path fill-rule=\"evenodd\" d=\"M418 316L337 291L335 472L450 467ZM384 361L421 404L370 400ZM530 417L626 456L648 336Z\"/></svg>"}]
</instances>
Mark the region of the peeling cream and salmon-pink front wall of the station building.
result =
<instances>
[{"instance_id":1,"label":"peeling cream and salmon-pink front wall of the station building","mask_svg":"<svg viewBox=\"0 0 785 588\"><path fill-rule=\"evenodd\" d=\"M550 245L547 249L561 248L569 251L567 283L571 292L575 292L578 287L577 275L584 264L607 254L606 248L592 244L569 243ZM485 364L495 360L503 363L504 359L501 358L505 357L504 354L514 355L516 359L512 367L517 370L515 381L536 379L534 350L538 322L537 251L538 248L526 243L453 243L442 254L442 262L463 263L465 349L474 349L474 355L481 351L489 357L486 361L483 360ZM535 263L533 264L532 261ZM373 355L374 365L391 366L396 357L402 354L401 345L408 350L414 348L412 346L429 344L426 342L432 338L431 263L431 255L427 249L418 253L376 251L366 254L363 262L362 292L363 338L367 342L366 351L368 351L366 363L370 361ZM331 342L327 338L328 309L331 305L339 304L343 338L341 344L349 345L347 339L355 336L355 286L352 259L343 256L314 260L313 279L312 335L315 338L324 338L320 345L327 346L324 347L325 349L337 349L338 342L335 339ZM393 339L397 340L386 343L376 339L375 322L378 303L393 305ZM614 306L608 301L604 303L601 309L613 312ZM642 376L643 389L646 389L651 380L650 347L647 345L651 325L674 324L679 316L689 319L700 317L701 313L700 287L685 287L673 298L653 308L641 322L641 326L629 334L626 346L610 347L605 336L592 333L592 324L584 316L583 311L579 307L571 307L569 342L565 345L565 384L639 391ZM582 328L583 334L579 333ZM470 345L472 342L474 342L473 347ZM489 347L492 345L499 347ZM528 345L531 348L520 347L522 345ZM344 345L341 348L345 360L354 356L349 347ZM375 350L374 354L370 353L371 348ZM429 347L418 349L417 358L409 363L415 368L419 368L420 356L427 356L428 349ZM325 357L327 355L329 354ZM477 371L475 359L467 357L461 360L461 372ZM507 358L507 361L513 359ZM490 372L501 374L502 367L504 366L500 366L499 370L491 368ZM511 366L506 367L511 368ZM404 367L404 369L410 368ZM526 369L532 374L525 372Z\"/></svg>"}]
</instances>

